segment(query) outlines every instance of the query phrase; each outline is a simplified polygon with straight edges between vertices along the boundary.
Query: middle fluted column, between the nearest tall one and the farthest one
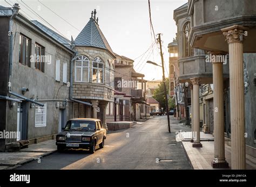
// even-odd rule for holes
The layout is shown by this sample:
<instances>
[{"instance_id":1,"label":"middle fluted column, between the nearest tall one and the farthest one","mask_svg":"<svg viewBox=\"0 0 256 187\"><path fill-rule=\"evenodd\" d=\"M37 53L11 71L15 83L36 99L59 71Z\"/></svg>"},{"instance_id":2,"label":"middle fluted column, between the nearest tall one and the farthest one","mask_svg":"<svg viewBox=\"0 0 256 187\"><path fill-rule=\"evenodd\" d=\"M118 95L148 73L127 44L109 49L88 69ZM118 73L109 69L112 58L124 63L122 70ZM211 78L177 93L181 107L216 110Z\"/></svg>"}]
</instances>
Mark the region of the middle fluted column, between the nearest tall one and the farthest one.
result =
<instances>
[{"instance_id":1,"label":"middle fluted column, between the nearest tall one and the farthest one","mask_svg":"<svg viewBox=\"0 0 256 187\"><path fill-rule=\"evenodd\" d=\"M223 55L212 53L212 55ZM213 70L213 123L214 123L214 160L213 168L228 168L225 160L224 138L224 97L223 97L223 62L212 62Z\"/></svg>"}]
</instances>

